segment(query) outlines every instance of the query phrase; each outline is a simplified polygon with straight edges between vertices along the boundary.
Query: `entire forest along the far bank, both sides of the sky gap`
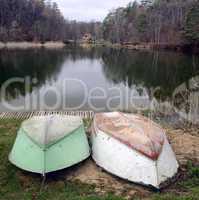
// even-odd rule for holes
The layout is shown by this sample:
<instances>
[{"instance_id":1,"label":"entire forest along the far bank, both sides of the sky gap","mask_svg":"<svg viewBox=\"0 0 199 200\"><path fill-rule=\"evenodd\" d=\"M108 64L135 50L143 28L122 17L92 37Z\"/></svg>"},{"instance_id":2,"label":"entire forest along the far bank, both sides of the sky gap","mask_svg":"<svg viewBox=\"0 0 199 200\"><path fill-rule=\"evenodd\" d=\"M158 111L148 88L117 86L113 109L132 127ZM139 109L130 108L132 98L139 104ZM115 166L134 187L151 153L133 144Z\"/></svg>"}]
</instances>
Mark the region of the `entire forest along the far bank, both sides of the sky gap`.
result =
<instances>
[{"instance_id":1,"label":"entire forest along the far bank, both sides of the sky gap","mask_svg":"<svg viewBox=\"0 0 199 200\"><path fill-rule=\"evenodd\" d=\"M141 0L112 10L103 22L65 19L46 0L1 0L1 41L94 40L111 43L199 43L199 0Z\"/></svg>"}]
</instances>

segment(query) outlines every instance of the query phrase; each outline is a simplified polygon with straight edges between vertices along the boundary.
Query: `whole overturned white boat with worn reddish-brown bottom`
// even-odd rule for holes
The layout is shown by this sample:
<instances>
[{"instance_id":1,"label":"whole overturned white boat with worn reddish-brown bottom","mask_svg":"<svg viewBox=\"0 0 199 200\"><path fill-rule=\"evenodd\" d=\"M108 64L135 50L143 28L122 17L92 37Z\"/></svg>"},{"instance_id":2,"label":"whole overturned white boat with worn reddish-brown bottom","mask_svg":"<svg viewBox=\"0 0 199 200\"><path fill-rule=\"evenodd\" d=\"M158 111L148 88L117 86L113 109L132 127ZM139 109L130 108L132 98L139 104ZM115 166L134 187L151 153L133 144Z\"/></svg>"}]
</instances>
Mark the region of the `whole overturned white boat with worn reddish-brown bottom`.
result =
<instances>
[{"instance_id":1,"label":"whole overturned white boat with worn reddish-brown bottom","mask_svg":"<svg viewBox=\"0 0 199 200\"><path fill-rule=\"evenodd\" d=\"M164 130L143 116L96 114L91 140L96 164L129 181L160 188L178 171Z\"/></svg>"}]
</instances>

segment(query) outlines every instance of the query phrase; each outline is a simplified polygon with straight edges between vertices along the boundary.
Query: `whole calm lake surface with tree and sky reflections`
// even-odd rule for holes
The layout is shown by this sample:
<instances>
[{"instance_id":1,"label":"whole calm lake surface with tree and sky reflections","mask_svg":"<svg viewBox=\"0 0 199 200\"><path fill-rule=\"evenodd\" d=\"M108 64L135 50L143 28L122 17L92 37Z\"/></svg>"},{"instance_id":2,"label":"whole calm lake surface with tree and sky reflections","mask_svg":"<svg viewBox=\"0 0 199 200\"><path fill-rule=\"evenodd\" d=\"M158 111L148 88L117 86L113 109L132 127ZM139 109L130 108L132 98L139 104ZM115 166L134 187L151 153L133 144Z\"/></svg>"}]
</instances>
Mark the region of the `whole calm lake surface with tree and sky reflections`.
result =
<instances>
[{"instance_id":1,"label":"whole calm lake surface with tree and sky reflections","mask_svg":"<svg viewBox=\"0 0 199 200\"><path fill-rule=\"evenodd\" d=\"M199 113L199 58L107 48L0 51L0 111Z\"/></svg>"}]
</instances>

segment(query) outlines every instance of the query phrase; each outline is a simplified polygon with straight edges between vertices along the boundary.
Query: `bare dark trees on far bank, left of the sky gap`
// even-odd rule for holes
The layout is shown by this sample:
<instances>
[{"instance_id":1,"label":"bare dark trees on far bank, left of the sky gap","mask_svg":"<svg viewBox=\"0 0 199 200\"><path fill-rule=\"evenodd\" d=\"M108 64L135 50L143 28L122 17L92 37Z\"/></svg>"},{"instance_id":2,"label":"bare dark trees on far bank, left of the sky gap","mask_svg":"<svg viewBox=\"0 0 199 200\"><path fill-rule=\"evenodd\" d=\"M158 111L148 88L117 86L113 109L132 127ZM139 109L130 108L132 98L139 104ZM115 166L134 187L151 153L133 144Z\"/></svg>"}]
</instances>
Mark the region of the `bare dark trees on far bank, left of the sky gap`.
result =
<instances>
[{"instance_id":1,"label":"bare dark trees on far bank, left of the sky gap","mask_svg":"<svg viewBox=\"0 0 199 200\"><path fill-rule=\"evenodd\" d=\"M86 32L100 37L99 23L64 19L47 0L0 0L0 41L77 40Z\"/></svg>"}]
</instances>

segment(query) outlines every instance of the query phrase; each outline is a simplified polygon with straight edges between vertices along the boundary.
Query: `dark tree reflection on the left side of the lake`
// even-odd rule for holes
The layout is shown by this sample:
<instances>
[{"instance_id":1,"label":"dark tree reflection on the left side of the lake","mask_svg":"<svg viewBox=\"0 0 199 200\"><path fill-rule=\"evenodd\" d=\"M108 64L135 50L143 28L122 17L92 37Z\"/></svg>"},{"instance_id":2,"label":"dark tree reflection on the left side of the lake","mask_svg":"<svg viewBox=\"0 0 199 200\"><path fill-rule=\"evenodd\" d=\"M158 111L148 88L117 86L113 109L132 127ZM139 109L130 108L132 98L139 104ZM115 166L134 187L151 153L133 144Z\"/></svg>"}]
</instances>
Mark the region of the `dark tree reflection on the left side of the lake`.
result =
<instances>
[{"instance_id":1,"label":"dark tree reflection on the left side of the lake","mask_svg":"<svg viewBox=\"0 0 199 200\"><path fill-rule=\"evenodd\" d=\"M41 87L51 79L56 80L64 60L62 51L26 50L0 51L0 86L11 78L35 78L34 87ZM32 80L31 80L32 81ZM32 84L30 86L33 86ZM32 87L30 90L32 91ZM9 99L25 95L24 84L13 83L8 87Z\"/></svg>"}]
</instances>

